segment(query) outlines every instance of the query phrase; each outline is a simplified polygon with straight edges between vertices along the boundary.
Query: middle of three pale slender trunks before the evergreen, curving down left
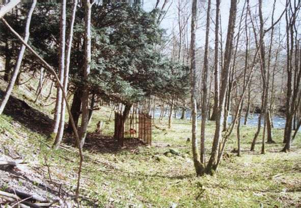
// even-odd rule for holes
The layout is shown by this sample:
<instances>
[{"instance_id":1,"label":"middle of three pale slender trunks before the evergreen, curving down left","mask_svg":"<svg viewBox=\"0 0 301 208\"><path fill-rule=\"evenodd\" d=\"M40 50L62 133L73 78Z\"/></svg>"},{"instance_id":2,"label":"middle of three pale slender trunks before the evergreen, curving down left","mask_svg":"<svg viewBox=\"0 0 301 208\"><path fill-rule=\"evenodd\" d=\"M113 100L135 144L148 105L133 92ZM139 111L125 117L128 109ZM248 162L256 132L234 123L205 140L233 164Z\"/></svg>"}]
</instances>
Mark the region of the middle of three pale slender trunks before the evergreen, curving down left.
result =
<instances>
[{"instance_id":1,"label":"middle of three pale slender trunks before the evergreen, curving down left","mask_svg":"<svg viewBox=\"0 0 301 208\"><path fill-rule=\"evenodd\" d=\"M65 0L63 0L63 1L65 1ZM69 36L68 36L68 40L67 40L66 60L64 60L65 61L65 66L66 66L66 68L64 70L64 79L63 79L63 86L64 86L64 91L65 92L67 92L67 88L68 88L70 54L71 54L71 46L72 46L72 38L73 38L73 25L74 25L74 20L75 20L76 6L77 6L77 0L74 0L73 7L72 7L72 15L71 15L71 19L70 19ZM66 6L65 6L65 9L66 9ZM66 23L66 18L65 18L65 23ZM65 100L62 99L59 132L56 136L56 140L53 143L53 147L56 148L56 149L60 146L60 143L62 141L63 134L64 134L65 109L66 109L66 103L65 103Z\"/></svg>"}]
</instances>

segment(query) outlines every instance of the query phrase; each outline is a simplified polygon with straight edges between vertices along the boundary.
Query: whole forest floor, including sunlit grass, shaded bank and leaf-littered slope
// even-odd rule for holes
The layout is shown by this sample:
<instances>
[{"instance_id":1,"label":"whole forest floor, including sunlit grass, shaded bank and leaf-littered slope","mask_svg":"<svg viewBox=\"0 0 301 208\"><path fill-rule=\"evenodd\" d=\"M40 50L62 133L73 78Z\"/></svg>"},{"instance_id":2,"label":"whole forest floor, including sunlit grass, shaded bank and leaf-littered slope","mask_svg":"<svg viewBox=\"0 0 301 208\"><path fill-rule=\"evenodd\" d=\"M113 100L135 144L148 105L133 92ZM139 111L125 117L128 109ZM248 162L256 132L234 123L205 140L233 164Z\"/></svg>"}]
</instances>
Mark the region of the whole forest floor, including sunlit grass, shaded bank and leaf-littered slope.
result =
<instances>
[{"instance_id":1,"label":"whole forest floor, including sunlit grass, shaded bank and leaf-littered slope","mask_svg":"<svg viewBox=\"0 0 301 208\"><path fill-rule=\"evenodd\" d=\"M5 88L3 82L0 86ZM73 207L79 161L74 138L67 134L61 148L51 150L48 134L53 105L33 103L31 94L31 87L15 90L0 117L0 160L20 162L0 166L0 190L11 188L45 201L58 200L53 204L56 207ZM152 146L132 140L119 147L112 138L110 115L111 109L101 107L89 126L80 185L82 207L301 207L300 133L292 151L280 153L283 130L274 129L276 143L266 144L266 154L261 155L262 135L251 152L256 128L242 126L241 157L235 154L234 132L217 176L197 177L191 143L186 142L191 135L189 120L173 119L171 129L166 118L155 120ZM100 120L102 133L96 134ZM207 160L213 134L214 123L208 122Z\"/></svg>"}]
</instances>

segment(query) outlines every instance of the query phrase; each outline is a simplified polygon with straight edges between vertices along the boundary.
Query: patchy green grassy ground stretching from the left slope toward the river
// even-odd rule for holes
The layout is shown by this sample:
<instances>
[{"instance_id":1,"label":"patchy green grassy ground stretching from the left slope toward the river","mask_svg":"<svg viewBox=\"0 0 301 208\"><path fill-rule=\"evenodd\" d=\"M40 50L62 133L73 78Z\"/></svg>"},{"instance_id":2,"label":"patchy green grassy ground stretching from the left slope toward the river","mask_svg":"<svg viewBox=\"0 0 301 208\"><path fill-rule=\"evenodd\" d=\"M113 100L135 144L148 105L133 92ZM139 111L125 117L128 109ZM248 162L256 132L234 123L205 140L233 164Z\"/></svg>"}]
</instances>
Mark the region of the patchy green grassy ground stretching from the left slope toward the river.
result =
<instances>
[{"instance_id":1,"label":"patchy green grassy ground stretching from the left slope toward the river","mask_svg":"<svg viewBox=\"0 0 301 208\"><path fill-rule=\"evenodd\" d=\"M38 106L36 106L38 108ZM96 111L89 131L104 121L103 135L112 136L114 122L108 122L111 110ZM113 116L114 118L114 116ZM273 130L276 144L266 144L266 154L260 154L260 140L256 151L250 152L256 128L243 126L242 157L231 151L236 145L233 133L226 148L227 157L221 163L217 177L196 177L191 161L190 121L155 121L152 146L101 150L89 146L84 150L84 164L80 194L96 202L99 207L300 207L301 206L301 135L297 135L290 153L280 153L283 130ZM78 157L76 148L64 144L58 151L47 145L47 136L19 125L11 117L0 119L0 148L2 154L21 155L33 171L49 180L47 166L54 187L64 184L74 192ZM8 133L7 133L8 132ZM214 123L206 126L206 159L209 157ZM5 136L6 135L6 136ZM9 135L9 136L7 136ZM13 138L13 139L12 139ZM96 140L96 139L99 139ZM101 143L101 137L95 137ZM170 148L179 156L167 154ZM49 182L50 183L50 182ZM84 207L94 204L82 200Z\"/></svg>"}]
</instances>

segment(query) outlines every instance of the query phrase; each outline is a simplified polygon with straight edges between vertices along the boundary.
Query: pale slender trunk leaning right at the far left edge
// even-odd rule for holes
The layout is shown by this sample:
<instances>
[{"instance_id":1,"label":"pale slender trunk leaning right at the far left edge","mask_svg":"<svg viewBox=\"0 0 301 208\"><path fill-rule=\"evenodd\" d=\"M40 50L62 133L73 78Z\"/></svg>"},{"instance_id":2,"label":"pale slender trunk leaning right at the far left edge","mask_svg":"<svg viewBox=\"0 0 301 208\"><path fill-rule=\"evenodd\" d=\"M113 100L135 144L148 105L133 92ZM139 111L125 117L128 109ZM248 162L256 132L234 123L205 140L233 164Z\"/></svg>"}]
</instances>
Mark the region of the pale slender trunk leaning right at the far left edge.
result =
<instances>
[{"instance_id":1,"label":"pale slender trunk leaning right at the far left edge","mask_svg":"<svg viewBox=\"0 0 301 208\"><path fill-rule=\"evenodd\" d=\"M28 39L29 39L29 36L30 36L29 28L30 28L32 14L33 14L34 9L36 7L36 3L37 3L37 1L33 0L33 4L31 6L31 8L29 10L29 13L28 13L28 16L27 16L26 25L25 25L25 32L24 32L24 41L25 41L25 43L28 42ZM0 11L2 11L2 9ZM22 62L22 59L23 59L25 48L26 48L25 45L21 46L21 49L20 49L20 52L19 52L19 55L18 55L18 60L16 62L16 66L14 68L13 75L11 77L11 80L8 84L8 87L6 89L4 97L3 97L2 101L1 101L1 104L0 104L0 115L2 114L2 112L3 112L3 110L6 106L6 103L7 103L8 99L11 95L11 92L13 90L13 86L14 86L16 78L18 76L18 72L19 72L19 69L20 69L20 66L21 66L21 62Z\"/></svg>"}]
</instances>

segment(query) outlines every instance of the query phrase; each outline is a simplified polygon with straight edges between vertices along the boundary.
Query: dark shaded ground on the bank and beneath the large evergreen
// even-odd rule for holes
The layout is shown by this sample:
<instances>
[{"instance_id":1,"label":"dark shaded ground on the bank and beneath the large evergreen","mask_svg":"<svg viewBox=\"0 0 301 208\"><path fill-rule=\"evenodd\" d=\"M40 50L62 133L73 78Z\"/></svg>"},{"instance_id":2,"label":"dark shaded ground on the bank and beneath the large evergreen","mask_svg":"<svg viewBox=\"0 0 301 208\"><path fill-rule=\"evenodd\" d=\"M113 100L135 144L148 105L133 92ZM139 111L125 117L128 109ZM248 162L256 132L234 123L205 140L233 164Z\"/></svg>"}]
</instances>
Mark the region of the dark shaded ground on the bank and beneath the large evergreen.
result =
<instances>
[{"instance_id":1,"label":"dark shaded ground on the bank and beneath the large evergreen","mask_svg":"<svg viewBox=\"0 0 301 208\"><path fill-rule=\"evenodd\" d=\"M4 96L4 92L0 90L0 99ZM19 122L22 126L29 128L34 132L38 132L44 136L48 136L51 132L53 120L43 112L31 107L29 104L14 96L10 96L8 103L4 109L4 114L9 115L14 121ZM63 141L76 145L73 134L64 133ZM116 139L112 136L102 136L96 133L88 133L84 150L91 153L112 153L116 154L122 150L131 151L144 143L139 139L125 140L124 146L121 147Z\"/></svg>"}]
</instances>

